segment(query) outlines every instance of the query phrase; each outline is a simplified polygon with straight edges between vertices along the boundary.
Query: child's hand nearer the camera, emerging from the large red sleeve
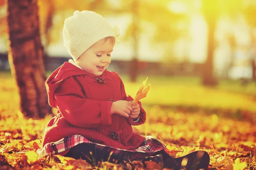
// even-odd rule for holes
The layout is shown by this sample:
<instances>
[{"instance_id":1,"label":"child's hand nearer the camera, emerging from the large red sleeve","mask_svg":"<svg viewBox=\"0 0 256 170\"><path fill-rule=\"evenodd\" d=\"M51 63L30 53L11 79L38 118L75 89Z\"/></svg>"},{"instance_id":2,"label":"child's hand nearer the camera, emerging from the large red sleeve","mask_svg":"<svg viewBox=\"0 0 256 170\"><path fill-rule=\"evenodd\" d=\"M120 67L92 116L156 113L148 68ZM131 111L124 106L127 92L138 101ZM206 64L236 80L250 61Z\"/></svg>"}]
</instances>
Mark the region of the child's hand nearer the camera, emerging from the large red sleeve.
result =
<instances>
[{"instance_id":1,"label":"child's hand nearer the camera, emerging from the large red sleeve","mask_svg":"<svg viewBox=\"0 0 256 170\"><path fill-rule=\"evenodd\" d=\"M124 117L129 117L129 114L133 110L131 108L132 105L133 104L131 102L128 102L126 100L119 100L119 101L113 102L110 113L119 114Z\"/></svg>"}]
</instances>

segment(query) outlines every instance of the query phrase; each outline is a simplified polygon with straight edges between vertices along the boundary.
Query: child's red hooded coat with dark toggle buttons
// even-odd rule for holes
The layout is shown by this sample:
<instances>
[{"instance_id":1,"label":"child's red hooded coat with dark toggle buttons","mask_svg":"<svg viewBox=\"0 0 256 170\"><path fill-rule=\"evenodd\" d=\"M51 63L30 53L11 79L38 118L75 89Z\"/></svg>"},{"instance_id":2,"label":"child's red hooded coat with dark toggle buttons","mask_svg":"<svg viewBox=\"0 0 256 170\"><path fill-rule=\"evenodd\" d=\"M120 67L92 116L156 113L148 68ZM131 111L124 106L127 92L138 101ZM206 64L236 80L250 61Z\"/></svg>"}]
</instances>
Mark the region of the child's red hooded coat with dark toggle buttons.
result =
<instances>
[{"instance_id":1,"label":"child's red hooded coat with dark toggle buttons","mask_svg":"<svg viewBox=\"0 0 256 170\"><path fill-rule=\"evenodd\" d=\"M105 83L96 81L98 77ZM49 105L57 108L57 115L45 128L43 146L75 134L121 149L137 148L144 141L131 127L145 122L146 114L140 102L138 122L110 114L111 100L133 100L125 94L124 84L116 72L104 71L101 76L94 76L65 62L49 76L46 84Z\"/></svg>"}]
</instances>

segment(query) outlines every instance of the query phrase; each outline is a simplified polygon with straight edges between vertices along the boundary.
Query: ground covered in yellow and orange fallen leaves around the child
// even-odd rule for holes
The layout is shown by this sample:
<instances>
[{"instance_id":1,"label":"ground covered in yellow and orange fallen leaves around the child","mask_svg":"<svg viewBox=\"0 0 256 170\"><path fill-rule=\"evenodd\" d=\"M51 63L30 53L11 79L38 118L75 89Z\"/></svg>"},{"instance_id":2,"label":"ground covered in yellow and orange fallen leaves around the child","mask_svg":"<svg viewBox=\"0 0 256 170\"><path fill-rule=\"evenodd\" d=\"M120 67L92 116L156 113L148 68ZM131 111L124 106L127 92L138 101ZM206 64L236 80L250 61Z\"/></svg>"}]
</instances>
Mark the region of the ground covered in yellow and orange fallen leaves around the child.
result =
<instances>
[{"instance_id":1,"label":"ground covered in yellow and orange fallen leaves around the child","mask_svg":"<svg viewBox=\"0 0 256 170\"><path fill-rule=\"evenodd\" d=\"M24 119L18 111L17 88L13 79L0 79L0 170L160 168L154 163L147 163L144 166L139 161L123 164L101 162L92 166L83 160L67 159L62 156L38 158L36 150L41 147L43 130L50 117L42 120ZM134 90L128 88L128 91L136 91L137 87L134 87ZM153 89L150 93L153 93ZM202 100L207 100L207 96ZM228 118L230 116L225 116L222 109L215 110L215 114L206 114L205 109L174 110L172 107L149 104L145 102L144 105L147 122L134 127L134 131L162 140L170 150L176 151L175 157L195 150L205 150L211 158L209 169L256 169L254 121L241 122L239 117ZM218 111L222 113L219 114ZM244 112L250 112L250 119L256 116L253 111Z\"/></svg>"}]
</instances>

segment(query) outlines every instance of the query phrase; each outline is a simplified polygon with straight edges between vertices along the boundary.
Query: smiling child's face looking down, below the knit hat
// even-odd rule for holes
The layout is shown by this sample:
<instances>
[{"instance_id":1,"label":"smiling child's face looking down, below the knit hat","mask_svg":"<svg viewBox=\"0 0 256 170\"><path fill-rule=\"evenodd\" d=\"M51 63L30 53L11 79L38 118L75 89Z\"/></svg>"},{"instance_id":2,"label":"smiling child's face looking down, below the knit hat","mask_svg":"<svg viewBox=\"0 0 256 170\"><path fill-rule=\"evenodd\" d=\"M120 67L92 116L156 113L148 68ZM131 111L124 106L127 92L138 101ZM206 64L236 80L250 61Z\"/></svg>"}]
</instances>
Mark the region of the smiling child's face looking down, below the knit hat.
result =
<instances>
[{"instance_id":1,"label":"smiling child's face looking down, below the knit hat","mask_svg":"<svg viewBox=\"0 0 256 170\"><path fill-rule=\"evenodd\" d=\"M85 71L95 76L100 76L111 62L113 47L114 45L111 40L99 40L87 49L77 59L76 63Z\"/></svg>"}]
</instances>

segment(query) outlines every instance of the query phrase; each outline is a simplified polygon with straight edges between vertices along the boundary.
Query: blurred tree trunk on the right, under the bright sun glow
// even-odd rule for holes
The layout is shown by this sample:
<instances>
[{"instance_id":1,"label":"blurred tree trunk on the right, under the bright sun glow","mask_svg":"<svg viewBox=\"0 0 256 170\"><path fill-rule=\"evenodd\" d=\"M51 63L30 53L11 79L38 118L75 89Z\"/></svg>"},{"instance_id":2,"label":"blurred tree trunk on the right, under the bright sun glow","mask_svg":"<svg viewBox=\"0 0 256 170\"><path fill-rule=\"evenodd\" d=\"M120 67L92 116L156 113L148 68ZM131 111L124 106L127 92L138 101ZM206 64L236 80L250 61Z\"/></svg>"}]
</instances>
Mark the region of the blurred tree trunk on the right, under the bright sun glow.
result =
<instances>
[{"instance_id":1,"label":"blurred tree trunk on the right, under the bright sun glow","mask_svg":"<svg viewBox=\"0 0 256 170\"><path fill-rule=\"evenodd\" d=\"M208 24L208 40L207 40L207 59L203 65L202 83L203 85L217 85L217 79L213 74L213 55L215 50L214 33L216 27L217 11L216 1L203 0L205 19Z\"/></svg>"}]
</instances>

